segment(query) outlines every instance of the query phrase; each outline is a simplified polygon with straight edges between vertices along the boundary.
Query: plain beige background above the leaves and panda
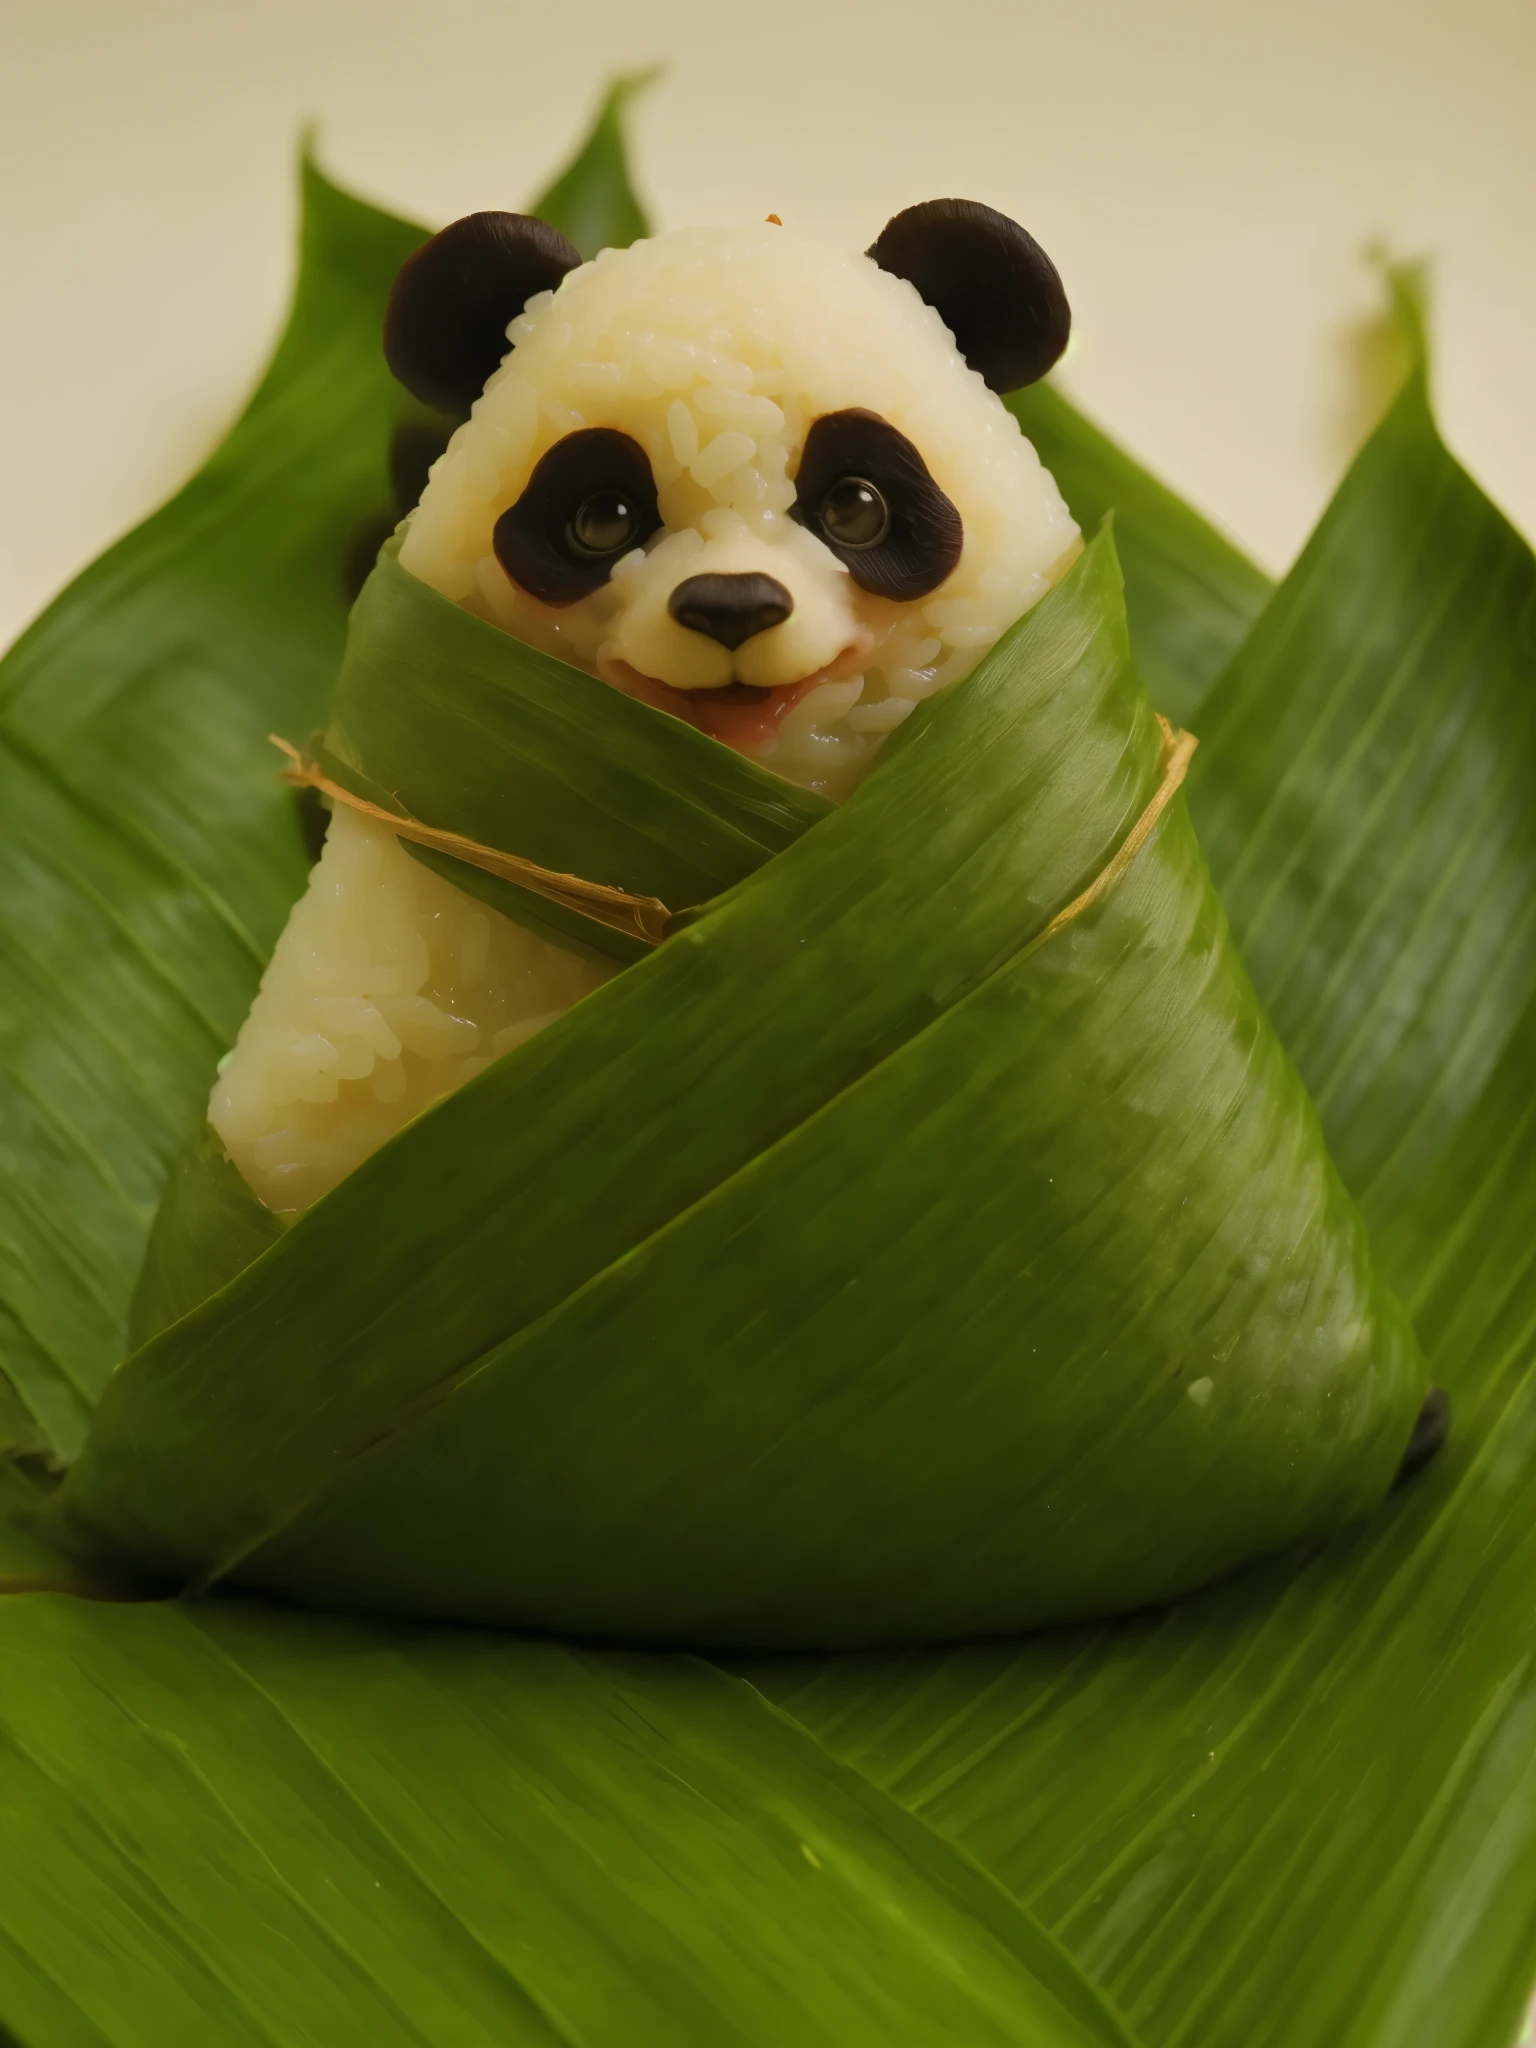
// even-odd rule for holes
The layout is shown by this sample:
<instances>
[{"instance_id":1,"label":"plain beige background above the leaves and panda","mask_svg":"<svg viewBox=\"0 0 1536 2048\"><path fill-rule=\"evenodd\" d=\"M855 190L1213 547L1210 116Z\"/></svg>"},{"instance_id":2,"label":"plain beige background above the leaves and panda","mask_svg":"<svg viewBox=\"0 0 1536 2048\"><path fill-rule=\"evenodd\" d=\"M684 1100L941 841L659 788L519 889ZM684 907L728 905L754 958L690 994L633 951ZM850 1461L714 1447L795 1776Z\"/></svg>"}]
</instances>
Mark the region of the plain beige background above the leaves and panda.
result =
<instances>
[{"instance_id":1,"label":"plain beige background above the leaves and panda","mask_svg":"<svg viewBox=\"0 0 1536 2048\"><path fill-rule=\"evenodd\" d=\"M518 205L598 80L664 225L864 246L956 193L1077 313L1069 387L1270 567L1360 432L1374 240L1436 258L1452 446L1536 532L1536 0L0 0L0 643L166 496L283 317L293 147Z\"/></svg>"}]
</instances>

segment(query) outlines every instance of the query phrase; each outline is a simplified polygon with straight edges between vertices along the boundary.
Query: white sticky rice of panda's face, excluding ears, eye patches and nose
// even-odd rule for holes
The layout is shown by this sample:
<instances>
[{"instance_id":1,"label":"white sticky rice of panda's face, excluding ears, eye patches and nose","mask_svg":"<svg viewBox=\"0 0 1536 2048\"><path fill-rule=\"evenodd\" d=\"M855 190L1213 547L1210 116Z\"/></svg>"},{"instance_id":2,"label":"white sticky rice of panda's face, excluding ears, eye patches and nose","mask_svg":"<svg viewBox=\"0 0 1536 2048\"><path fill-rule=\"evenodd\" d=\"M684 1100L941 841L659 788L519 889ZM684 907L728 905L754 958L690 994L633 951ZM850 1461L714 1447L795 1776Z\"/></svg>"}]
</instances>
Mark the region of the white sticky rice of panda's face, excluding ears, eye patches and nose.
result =
<instances>
[{"instance_id":1,"label":"white sticky rice of panda's face, excluding ears, eye patches and nose","mask_svg":"<svg viewBox=\"0 0 1536 2048\"><path fill-rule=\"evenodd\" d=\"M604 674L625 659L680 688L731 670L795 682L862 629L862 676L811 690L754 756L831 797L913 705L969 674L1081 545L1055 479L938 313L866 256L772 223L686 227L604 250L508 332L514 348L434 465L401 563L578 668ZM807 430L854 406L915 442L965 520L958 565L915 604L866 596L788 518ZM584 426L645 449L664 530L596 596L553 608L508 580L492 528L539 457ZM795 596L795 616L735 664L666 614L684 575L713 569L764 569Z\"/></svg>"}]
</instances>

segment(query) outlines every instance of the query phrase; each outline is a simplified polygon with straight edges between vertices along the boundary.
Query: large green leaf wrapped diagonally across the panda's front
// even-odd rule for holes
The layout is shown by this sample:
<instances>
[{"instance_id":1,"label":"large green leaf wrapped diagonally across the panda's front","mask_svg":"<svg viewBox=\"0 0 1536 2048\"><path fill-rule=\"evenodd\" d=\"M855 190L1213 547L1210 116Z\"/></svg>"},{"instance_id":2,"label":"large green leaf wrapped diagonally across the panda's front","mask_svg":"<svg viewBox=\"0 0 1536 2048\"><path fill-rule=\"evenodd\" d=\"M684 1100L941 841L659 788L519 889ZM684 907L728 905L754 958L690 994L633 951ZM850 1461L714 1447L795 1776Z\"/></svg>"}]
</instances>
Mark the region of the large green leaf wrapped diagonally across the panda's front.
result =
<instances>
[{"instance_id":1,"label":"large green leaf wrapped diagonally across the panda's front","mask_svg":"<svg viewBox=\"0 0 1536 2048\"><path fill-rule=\"evenodd\" d=\"M1366 1513L1423 1364L1167 788L1102 535L842 811L129 1360L76 1528L786 1645L1139 1606Z\"/></svg>"}]
</instances>

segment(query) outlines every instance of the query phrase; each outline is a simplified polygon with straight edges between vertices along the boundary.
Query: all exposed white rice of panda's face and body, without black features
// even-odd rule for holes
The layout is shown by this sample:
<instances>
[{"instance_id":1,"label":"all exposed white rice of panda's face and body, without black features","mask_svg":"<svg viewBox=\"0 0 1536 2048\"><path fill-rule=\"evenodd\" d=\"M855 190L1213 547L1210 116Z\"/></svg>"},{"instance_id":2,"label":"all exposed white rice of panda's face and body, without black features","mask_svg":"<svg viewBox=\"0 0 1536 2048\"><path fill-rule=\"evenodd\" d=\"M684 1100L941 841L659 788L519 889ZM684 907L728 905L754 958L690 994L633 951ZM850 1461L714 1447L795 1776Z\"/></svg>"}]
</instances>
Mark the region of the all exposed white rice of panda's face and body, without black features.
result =
<instances>
[{"instance_id":1,"label":"all exposed white rice of panda's face and body, without black features","mask_svg":"<svg viewBox=\"0 0 1536 2048\"><path fill-rule=\"evenodd\" d=\"M604 252L508 332L512 352L432 469L406 569L621 686L627 668L684 690L774 686L842 655L838 680L809 688L756 745L778 774L834 797L1081 547L1014 418L911 285L868 258L776 225L684 229ZM915 442L965 522L958 565L913 604L858 590L788 518L807 430L854 406ZM508 582L492 528L539 457L584 426L645 449L664 530L604 590L551 608ZM772 573L793 616L735 655L688 633L666 598L713 569ZM256 1194L297 1214L604 979L338 811L209 1120Z\"/></svg>"}]
</instances>

